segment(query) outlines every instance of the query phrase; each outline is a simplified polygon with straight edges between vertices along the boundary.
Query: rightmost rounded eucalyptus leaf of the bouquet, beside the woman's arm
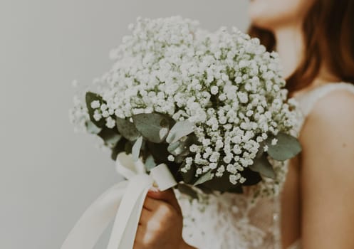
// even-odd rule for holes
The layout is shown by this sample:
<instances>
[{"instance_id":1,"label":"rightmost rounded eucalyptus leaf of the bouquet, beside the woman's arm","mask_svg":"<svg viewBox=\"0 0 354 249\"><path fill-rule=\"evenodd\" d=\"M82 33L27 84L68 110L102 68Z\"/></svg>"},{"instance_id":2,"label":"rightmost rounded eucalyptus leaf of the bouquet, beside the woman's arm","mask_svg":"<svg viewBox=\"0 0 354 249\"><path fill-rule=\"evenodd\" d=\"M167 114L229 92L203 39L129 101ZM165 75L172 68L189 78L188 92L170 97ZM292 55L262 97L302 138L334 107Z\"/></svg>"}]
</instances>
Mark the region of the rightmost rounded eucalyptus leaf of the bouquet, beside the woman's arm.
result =
<instances>
[{"instance_id":1,"label":"rightmost rounded eucalyptus leaf of the bouquet, beside the woman's arm","mask_svg":"<svg viewBox=\"0 0 354 249\"><path fill-rule=\"evenodd\" d=\"M278 142L276 145L271 145L271 141L276 138ZM301 144L298 142L296 137L279 132L276 137L269 137L266 140L266 145L268 145L268 154L271 158L278 161L285 161L295 157L301 152Z\"/></svg>"}]
</instances>

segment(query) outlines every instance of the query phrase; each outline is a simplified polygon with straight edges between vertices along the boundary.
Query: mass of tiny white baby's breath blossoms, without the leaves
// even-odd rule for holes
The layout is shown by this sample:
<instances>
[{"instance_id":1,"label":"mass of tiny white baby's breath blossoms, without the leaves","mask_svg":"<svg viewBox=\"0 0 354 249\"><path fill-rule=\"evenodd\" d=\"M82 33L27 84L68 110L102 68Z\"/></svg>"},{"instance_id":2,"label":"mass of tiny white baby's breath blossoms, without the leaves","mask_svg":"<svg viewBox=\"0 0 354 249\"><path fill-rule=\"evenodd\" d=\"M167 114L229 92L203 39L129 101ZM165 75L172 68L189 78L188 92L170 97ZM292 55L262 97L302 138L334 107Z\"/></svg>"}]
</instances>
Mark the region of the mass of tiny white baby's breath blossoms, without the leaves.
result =
<instances>
[{"instance_id":1,"label":"mass of tiny white baby's breath blossoms, without the leaves","mask_svg":"<svg viewBox=\"0 0 354 249\"><path fill-rule=\"evenodd\" d=\"M253 164L260 144L296 122L278 55L237 28L209 33L179 16L138 18L130 30L99 80L106 104L91 103L95 120L114 127L115 117L150 112L187 119L200 144L190 147L182 171L196 166L197 177L228 172L232 184L244 183L240 173Z\"/></svg>"}]
</instances>

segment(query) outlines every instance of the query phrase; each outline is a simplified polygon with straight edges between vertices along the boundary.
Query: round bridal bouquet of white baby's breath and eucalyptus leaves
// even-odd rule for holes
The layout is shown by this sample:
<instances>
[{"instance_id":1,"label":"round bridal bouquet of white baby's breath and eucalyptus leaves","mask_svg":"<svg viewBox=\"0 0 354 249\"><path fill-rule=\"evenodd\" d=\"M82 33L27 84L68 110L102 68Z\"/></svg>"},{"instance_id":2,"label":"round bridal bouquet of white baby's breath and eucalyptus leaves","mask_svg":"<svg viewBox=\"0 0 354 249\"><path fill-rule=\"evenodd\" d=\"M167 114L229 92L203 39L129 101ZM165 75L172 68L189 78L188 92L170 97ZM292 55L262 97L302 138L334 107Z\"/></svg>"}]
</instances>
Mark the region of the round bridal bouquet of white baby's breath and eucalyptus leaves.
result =
<instances>
[{"instance_id":1,"label":"round bridal bouquet of white baby's breath and eucalyptus leaves","mask_svg":"<svg viewBox=\"0 0 354 249\"><path fill-rule=\"evenodd\" d=\"M76 98L71 121L149 172L166 164L178 189L242 193L274 179L274 164L301 147L291 132L279 58L237 28L204 31L179 16L130 25L95 91Z\"/></svg>"}]
</instances>

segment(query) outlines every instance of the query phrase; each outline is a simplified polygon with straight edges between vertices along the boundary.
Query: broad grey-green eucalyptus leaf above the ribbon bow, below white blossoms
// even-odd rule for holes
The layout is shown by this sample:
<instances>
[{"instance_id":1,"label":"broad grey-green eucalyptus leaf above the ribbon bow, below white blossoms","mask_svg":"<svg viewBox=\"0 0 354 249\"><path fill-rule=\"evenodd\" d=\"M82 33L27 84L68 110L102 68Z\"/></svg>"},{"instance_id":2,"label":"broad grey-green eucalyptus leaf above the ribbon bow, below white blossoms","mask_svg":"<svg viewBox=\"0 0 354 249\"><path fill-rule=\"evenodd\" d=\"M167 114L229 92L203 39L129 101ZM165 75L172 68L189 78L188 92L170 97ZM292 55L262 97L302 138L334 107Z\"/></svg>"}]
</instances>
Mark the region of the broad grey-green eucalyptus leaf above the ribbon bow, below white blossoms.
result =
<instances>
[{"instance_id":1,"label":"broad grey-green eucalyptus leaf above the ribbon bow, below white blossoms","mask_svg":"<svg viewBox=\"0 0 354 249\"><path fill-rule=\"evenodd\" d=\"M150 142L161 143L170 130L170 122L160 113L141 113L132 116L137 130Z\"/></svg>"}]
</instances>

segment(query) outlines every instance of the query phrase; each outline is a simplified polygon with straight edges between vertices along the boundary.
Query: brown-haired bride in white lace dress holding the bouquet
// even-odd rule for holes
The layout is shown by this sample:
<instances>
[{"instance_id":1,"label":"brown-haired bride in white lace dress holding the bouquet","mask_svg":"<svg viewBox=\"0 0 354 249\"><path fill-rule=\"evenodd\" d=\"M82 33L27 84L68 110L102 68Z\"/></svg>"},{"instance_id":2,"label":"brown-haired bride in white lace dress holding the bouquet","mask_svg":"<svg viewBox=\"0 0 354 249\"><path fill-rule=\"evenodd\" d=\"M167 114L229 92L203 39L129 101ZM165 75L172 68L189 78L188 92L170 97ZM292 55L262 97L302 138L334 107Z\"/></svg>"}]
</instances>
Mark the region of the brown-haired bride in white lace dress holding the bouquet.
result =
<instances>
[{"instance_id":1,"label":"brown-haired bride in white lace dress holding the bouquet","mask_svg":"<svg viewBox=\"0 0 354 249\"><path fill-rule=\"evenodd\" d=\"M251 36L283 60L303 152L275 198L152 189L135 249L354 248L354 1L254 0L249 13Z\"/></svg>"}]
</instances>

